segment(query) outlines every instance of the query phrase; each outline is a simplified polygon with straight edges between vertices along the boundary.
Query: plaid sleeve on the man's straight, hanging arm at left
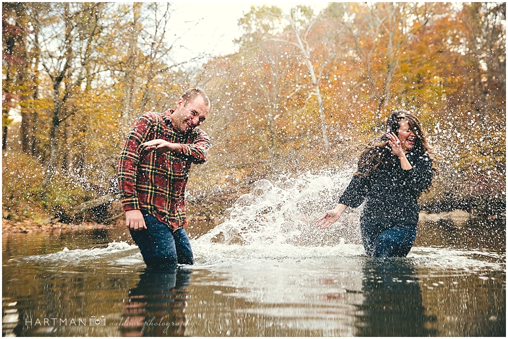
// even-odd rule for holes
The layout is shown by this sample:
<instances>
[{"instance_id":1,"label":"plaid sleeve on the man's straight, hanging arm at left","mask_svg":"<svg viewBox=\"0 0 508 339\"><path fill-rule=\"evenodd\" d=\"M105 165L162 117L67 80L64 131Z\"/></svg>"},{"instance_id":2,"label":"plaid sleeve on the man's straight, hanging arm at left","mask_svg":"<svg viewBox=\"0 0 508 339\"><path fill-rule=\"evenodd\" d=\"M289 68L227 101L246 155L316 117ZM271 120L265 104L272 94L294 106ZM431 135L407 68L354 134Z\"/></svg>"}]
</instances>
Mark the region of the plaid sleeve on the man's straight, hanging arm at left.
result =
<instances>
[{"instance_id":1,"label":"plaid sleeve on the man's straight, hanging arm at left","mask_svg":"<svg viewBox=\"0 0 508 339\"><path fill-rule=\"evenodd\" d=\"M135 123L123 145L120 158L116 163L118 190L122 199L123 210L140 209L136 193L136 174L140 161L141 144L148 139L151 120L147 115L141 116Z\"/></svg>"}]
</instances>

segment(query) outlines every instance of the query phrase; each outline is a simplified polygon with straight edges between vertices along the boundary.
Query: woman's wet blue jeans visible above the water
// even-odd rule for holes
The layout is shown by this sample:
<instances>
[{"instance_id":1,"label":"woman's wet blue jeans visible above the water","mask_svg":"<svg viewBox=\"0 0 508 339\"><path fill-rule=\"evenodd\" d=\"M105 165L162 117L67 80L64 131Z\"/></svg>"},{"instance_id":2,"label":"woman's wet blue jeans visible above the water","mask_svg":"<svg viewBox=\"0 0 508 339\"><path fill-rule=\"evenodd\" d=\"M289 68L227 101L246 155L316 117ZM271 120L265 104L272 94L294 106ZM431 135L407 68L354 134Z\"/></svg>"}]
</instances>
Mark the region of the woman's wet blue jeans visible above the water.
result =
<instances>
[{"instance_id":1,"label":"woman's wet blue jeans visible above the water","mask_svg":"<svg viewBox=\"0 0 508 339\"><path fill-rule=\"evenodd\" d=\"M365 252L375 258L405 257L416 239L416 224L394 225L361 223Z\"/></svg>"}]
</instances>

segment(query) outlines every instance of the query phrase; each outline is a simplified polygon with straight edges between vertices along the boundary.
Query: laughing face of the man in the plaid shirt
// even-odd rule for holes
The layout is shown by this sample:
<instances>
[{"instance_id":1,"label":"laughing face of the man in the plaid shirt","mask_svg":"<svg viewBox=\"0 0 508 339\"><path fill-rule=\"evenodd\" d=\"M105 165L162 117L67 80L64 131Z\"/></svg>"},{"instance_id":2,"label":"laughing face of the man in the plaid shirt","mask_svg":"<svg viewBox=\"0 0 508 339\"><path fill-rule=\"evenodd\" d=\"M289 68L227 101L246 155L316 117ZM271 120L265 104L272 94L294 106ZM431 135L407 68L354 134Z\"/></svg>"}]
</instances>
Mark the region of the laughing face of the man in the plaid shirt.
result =
<instances>
[{"instance_id":1,"label":"laughing face of the man in the plaid shirt","mask_svg":"<svg viewBox=\"0 0 508 339\"><path fill-rule=\"evenodd\" d=\"M201 96L187 101L186 105L184 105L183 98L179 98L176 102L176 109L171 115L173 126L182 133L190 132L205 121L208 110L209 108Z\"/></svg>"}]
</instances>

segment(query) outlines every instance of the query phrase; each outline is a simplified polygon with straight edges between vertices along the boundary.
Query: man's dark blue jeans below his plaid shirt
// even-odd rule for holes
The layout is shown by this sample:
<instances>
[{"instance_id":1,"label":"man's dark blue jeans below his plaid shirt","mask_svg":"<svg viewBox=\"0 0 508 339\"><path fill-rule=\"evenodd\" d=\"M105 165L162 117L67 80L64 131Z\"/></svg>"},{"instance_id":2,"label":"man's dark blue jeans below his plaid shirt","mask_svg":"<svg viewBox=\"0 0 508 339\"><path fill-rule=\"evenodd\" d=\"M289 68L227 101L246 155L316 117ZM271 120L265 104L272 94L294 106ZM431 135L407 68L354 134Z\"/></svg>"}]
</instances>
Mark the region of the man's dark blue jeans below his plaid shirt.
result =
<instances>
[{"instance_id":1,"label":"man's dark blue jeans below his plaid shirt","mask_svg":"<svg viewBox=\"0 0 508 339\"><path fill-rule=\"evenodd\" d=\"M194 256L183 228L172 230L151 214L143 212L146 229L131 232L147 267L162 268L177 263L193 265Z\"/></svg>"}]
</instances>

